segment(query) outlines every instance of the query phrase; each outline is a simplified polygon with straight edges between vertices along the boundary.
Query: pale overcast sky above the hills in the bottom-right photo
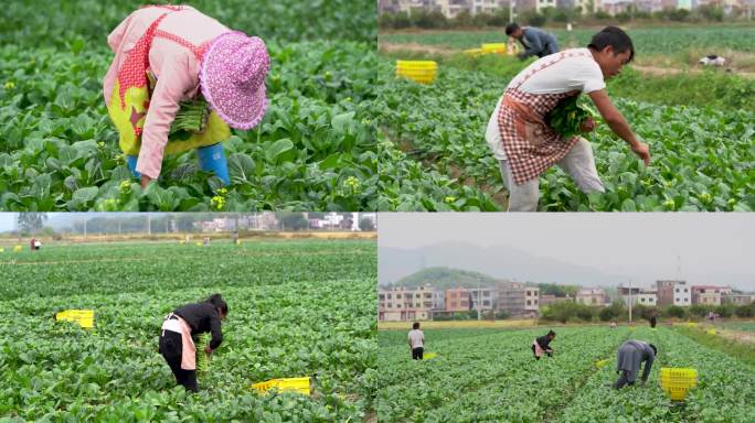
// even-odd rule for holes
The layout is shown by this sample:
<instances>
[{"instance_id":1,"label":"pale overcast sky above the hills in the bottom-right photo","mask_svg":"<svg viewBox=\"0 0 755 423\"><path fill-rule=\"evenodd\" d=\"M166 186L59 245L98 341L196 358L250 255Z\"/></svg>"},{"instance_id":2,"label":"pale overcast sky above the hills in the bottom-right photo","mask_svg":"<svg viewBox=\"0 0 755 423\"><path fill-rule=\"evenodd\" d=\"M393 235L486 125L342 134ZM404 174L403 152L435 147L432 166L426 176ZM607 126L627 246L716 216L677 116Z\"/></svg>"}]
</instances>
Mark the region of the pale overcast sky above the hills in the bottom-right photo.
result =
<instances>
[{"instance_id":1,"label":"pale overcast sky above the hills in the bottom-right photo","mask_svg":"<svg viewBox=\"0 0 755 423\"><path fill-rule=\"evenodd\" d=\"M447 241L510 246L636 280L745 275L755 290L753 213L676 214L394 214L379 215L379 247ZM454 267L454 263L448 263ZM737 278L742 280L742 278Z\"/></svg>"}]
</instances>

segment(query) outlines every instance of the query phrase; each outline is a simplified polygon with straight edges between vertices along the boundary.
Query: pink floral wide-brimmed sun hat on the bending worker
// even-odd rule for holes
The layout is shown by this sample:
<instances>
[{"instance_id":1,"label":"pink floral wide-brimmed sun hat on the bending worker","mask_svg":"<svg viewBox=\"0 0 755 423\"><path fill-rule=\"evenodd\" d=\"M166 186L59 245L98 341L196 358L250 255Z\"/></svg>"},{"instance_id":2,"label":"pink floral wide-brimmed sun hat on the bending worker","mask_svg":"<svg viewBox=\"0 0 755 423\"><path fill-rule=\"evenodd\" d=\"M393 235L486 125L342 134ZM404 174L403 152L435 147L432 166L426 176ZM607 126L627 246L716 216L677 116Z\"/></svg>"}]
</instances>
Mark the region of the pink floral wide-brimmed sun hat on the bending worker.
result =
<instances>
[{"instance_id":1,"label":"pink floral wide-brimmed sun hat on the bending worker","mask_svg":"<svg viewBox=\"0 0 755 423\"><path fill-rule=\"evenodd\" d=\"M212 42L202 58L202 95L230 127L252 129L265 116L269 68L270 57L262 39L226 32Z\"/></svg>"}]
</instances>

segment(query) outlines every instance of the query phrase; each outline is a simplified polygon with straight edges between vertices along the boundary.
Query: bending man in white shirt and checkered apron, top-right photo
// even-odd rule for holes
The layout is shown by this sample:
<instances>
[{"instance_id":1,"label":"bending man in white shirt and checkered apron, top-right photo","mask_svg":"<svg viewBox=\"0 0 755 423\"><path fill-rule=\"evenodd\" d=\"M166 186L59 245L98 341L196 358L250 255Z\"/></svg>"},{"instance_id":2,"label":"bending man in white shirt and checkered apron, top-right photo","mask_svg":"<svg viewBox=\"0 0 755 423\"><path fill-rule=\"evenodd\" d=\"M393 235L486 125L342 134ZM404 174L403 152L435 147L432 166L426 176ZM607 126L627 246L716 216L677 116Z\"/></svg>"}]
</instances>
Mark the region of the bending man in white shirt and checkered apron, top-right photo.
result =
<instances>
[{"instance_id":1,"label":"bending man in white shirt and checkered apron, top-right photo","mask_svg":"<svg viewBox=\"0 0 755 423\"><path fill-rule=\"evenodd\" d=\"M587 140L563 138L545 123L560 101L586 93L610 129L631 150L650 162L648 145L632 133L606 94L606 78L617 75L635 56L629 36L607 26L586 48L571 48L545 56L519 73L490 116L486 140L499 161L509 189L509 212L535 212L539 178L554 164L563 169L583 192L605 192ZM581 123L583 132L595 122Z\"/></svg>"}]
</instances>

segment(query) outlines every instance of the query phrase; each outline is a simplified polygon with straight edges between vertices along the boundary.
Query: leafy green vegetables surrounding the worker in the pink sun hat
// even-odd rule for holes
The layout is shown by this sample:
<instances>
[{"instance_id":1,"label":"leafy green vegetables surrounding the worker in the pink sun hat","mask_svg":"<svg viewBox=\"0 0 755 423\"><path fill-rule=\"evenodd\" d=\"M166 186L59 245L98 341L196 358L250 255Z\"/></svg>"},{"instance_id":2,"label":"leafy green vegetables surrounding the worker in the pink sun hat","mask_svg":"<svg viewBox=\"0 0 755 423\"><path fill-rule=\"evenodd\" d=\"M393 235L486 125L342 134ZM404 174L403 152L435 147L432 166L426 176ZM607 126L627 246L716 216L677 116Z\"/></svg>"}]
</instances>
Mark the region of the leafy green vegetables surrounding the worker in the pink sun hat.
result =
<instances>
[{"instance_id":1,"label":"leafy green vegetables surrounding the worker in the pink sun hat","mask_svg":"<svg viewBox=\"0 0 755 423\"><path fill-rule=\"evenodd\" d=\"M264 120L224 143L231 185L193 152L168 156L158 186L128 172L102 80L107 34L140 2L15 1L0 21L0 210L376 208L374 2L190 3L270 53Z\"/></svg>"}]
</instances>

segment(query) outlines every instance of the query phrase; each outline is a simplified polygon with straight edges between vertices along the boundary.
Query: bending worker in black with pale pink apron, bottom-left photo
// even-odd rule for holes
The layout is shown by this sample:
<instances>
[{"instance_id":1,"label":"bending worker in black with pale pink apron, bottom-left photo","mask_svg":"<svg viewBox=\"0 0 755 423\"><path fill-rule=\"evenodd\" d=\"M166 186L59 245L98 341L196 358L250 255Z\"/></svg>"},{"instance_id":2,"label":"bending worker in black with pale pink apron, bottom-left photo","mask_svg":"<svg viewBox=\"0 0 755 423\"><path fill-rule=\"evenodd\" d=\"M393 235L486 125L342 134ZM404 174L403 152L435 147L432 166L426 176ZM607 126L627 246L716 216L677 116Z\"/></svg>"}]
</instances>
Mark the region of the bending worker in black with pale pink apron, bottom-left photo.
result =
<instances>
[{"instance_id":1,"label":"bending worker in black with pale pink apron, bottom-left photo","mask_svg":"<svg viewBox=\"0 0 755 423\"><path fill-rule=\"evenodd\" d=\"M168 361L176 381L187 390L198 391L194 340L199 334L211 333L210 345L204 348L204 354L210 356L223 341L221 321L227 315L228 305L220 294L214 294L202 303L177 308L162 321L160 354Z\"/></svg>"}]
</instances>

